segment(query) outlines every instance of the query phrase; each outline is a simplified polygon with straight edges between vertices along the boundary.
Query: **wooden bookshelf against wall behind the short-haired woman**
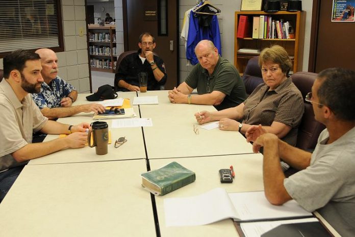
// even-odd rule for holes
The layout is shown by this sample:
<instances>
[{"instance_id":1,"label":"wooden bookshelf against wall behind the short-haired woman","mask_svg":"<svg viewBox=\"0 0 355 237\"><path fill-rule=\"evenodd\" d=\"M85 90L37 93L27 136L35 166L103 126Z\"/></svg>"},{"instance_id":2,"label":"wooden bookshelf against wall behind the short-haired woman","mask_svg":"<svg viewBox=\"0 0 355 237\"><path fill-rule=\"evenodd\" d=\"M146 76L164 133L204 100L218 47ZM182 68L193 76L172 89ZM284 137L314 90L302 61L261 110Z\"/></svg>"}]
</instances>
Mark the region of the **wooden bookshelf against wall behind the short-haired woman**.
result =
<instances>
[{"instance_id":1,"label":"wooden bookshelf against wall behind the short-haired woman","mask_svg":"<svg viewBox=\"0 0 355 237\"><path fill-rule=\"evenodd\" d=\"M250 37L246 38L237 38L238 33L238 23L240 16L248 17L248 31ZM284 22L292 22L292 27L294 30L293 39L279 39L279 38L263 38L255 39L252 38L252 28L253 28L253 17L254 16L270 16L272 20L280 21L283 19ZM241 11L235 12L235 38L234 38L234 66L238 69L240 73L243 73L246 67L248 60L252 57L258 56L260 52L238 52L241 48L251 48L259 49L260 51L265 47L270 47L274 44L283 46L288 52L291 61L293 63L293 72L297 72L300 69L298 68L299 58L298 58L298 46L299 46L299 28L300 28L301 12L287 12L287 11L278 11L275 13L263 12L263 11ZM292 72L291 72L292 73Z\"/></svg>"}]
</instances>

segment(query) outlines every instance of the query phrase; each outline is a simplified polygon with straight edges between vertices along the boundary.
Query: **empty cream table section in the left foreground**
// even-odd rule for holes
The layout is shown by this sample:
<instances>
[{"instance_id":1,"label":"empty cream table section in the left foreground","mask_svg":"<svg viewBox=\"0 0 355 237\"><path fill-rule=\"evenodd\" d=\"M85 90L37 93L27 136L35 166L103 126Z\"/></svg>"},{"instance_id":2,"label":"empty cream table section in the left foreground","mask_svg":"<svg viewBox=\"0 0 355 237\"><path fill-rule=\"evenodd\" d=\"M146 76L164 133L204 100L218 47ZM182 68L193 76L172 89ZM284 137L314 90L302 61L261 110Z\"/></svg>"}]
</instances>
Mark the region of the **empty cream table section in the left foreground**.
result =
<instances>
[{"instance_id":1,"label":"empty cream table section in the left foreground","mask_svg":"<svg viewBox=\"0 0 355 237\"><path fill-rule=\"evenodd\" d=\"M25 166L0 205L0 236L154 236L145 160Z\"/></svg>"}]
</instances>

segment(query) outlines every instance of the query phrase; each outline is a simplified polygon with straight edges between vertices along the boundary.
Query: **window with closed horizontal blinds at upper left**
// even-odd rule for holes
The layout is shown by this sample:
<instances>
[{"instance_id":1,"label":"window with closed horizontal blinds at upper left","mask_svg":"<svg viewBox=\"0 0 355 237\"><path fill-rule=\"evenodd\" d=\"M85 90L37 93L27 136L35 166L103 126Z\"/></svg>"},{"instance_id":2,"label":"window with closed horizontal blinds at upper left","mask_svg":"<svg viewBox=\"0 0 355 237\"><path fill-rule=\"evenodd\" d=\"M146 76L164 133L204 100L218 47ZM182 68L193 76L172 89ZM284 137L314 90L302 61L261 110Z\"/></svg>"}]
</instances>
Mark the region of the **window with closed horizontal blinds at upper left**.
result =
<instances>
[{"instance_id":1,"label":"window with closed horizontal blinds at upper left","mask_svg":"<svg viewBox=\"0 0 355 237\"><path fill-rule=\"evenodd\" d=\"M0 54L39 47L64 50L60 0L0 1Z\"/></svg>"}]
</instances>

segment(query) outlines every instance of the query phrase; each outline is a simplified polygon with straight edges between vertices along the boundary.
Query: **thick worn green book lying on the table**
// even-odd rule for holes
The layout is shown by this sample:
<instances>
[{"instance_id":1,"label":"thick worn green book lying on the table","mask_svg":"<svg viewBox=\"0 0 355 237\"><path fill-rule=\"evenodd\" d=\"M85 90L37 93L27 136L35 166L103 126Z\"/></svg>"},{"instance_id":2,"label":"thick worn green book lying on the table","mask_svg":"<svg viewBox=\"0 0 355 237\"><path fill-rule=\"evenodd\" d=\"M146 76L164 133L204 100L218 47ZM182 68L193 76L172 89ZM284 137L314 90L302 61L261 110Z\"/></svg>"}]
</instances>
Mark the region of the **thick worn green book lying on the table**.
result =
<instances>
[{"instance_id":1,"label":"thick worn green book lying on the table","mask_svg":"<svg viewBox=\"0 0 355 237\"><path fill-rule=\"evenodd\" d=\"M195 172L186 169L177 162L141 174L142 186L154 195L165 195L179 189L196 179Z\"/></svg>"}]
</instances>

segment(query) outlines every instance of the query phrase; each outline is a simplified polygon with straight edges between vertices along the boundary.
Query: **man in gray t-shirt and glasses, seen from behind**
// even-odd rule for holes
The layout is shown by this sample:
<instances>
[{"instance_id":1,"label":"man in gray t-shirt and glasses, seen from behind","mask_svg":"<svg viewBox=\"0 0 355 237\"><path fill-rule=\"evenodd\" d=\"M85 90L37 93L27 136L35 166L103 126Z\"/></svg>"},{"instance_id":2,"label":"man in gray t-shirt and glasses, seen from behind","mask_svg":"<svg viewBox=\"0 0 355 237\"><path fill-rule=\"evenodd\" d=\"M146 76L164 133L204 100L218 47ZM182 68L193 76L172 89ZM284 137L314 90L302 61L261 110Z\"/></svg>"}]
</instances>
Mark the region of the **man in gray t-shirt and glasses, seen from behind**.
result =
<instances>
[{"instance_id":1,"label":"man in gray t-shirt and glasses, seen from behind","mask_svg":"<svg viewBox=\"0 0 355 237\"><path fill-rule=\"evenodd\" d=\"M342 236L354 236L355 72L321 71L306 101L312 103L315 119L326 126L313 153L263 134L258 126L247 131L255 152L264 147L265 196L275 205L295 199L309 212L317 210ZM286 178L280 159L300 171Z\"/></svg>"}]
</instances>

